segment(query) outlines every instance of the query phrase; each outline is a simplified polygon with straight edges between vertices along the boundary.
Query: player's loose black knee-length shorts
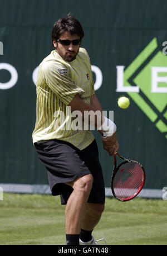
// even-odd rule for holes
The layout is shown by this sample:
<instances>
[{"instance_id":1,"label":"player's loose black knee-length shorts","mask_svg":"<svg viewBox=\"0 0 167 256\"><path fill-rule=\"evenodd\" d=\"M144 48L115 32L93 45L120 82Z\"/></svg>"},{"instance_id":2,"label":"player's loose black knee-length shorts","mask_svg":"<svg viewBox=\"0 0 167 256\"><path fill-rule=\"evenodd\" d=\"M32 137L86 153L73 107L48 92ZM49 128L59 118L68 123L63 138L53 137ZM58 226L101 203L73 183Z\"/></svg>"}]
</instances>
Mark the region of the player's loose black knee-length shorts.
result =
<instances>
[{"instance_id":1,"label":"player's loose black knee-length shorts","mask_svg":"<svg viewBox=\"0 0 167 256\"><path fill-rule=\"evenodd\" d=\"M43 140L35 143L38 157L45 164L53 196L61 196L61 204L67 203L73 188L65 182L92 174L94 182L87 202L105 203L105 186L99 153L94 140L83 150L62 140Z\"/></svg>"}]
</instances>

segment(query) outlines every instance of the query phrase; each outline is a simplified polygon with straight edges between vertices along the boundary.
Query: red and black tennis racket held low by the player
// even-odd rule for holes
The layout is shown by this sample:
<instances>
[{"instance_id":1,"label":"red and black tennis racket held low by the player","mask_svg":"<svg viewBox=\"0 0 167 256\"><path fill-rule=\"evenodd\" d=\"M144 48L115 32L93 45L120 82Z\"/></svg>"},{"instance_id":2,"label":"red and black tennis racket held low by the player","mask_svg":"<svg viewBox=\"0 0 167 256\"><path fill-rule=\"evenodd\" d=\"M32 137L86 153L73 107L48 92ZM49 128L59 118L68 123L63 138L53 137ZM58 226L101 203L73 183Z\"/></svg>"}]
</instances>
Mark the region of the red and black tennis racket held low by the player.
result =
<instances>
[{"instance_id":1,"label":"red and black tennis racket held low by the player","mask_svg":"<svg viewBox=\"0 0 167 256\"><path fill-rule=\"evenodd\" d=\"M116 166L116 155L124 160ZM135 161L114 155L114 168L111 177L112 194L117 200L129 201L139 194L145 183L145 170Z\"/></svg>"}]
</instances>

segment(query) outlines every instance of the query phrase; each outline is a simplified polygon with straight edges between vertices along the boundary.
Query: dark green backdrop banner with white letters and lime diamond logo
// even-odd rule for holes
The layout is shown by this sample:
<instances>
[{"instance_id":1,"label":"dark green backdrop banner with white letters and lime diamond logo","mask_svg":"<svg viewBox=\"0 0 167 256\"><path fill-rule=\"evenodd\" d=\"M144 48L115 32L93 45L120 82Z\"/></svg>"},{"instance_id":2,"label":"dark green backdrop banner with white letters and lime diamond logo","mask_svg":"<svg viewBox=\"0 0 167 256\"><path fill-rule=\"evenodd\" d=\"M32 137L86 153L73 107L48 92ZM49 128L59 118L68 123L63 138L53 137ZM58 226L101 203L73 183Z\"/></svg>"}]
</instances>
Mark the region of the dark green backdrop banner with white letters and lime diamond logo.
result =
<instances>
[{"instance_id":1,"label":"dark green backdrop banner with white letters and lime diamond logo","mask_svg":"<svg viewBox=\"0 0 167 256\"><path fill-rule=\"evenodd\" d=\"M0 0L0 6L0 186L41 184L45 192L47 172L32 145L37 70L53 50L53 23L71 12L84 28L82 47L90 55L97 98L104 111L114 111L120 154L143 164L145 189L162 191L167 186L166 1ZM120 96L130 98L129 108L119 108ZM99 133L94 135L109 188L113 160Z\"/></svg>"}]
</instances>

